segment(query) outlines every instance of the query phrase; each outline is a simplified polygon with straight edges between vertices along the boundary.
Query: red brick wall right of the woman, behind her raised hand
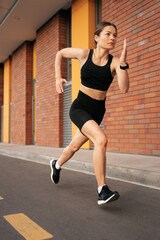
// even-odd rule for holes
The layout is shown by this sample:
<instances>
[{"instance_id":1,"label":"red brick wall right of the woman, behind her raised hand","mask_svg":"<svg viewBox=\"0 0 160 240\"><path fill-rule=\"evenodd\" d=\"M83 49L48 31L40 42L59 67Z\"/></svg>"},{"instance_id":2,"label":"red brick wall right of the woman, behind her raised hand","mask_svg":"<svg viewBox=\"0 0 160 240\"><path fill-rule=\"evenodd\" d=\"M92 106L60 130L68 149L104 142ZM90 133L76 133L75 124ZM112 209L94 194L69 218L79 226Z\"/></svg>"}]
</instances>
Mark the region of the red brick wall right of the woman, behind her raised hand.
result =
<instances>
[{"instance_id":1,"label":"red brick wall right of the woman, behind her raised hand","mask_svg":"<svg viewBox=\"0 0 160 240\"><path fill-rule=\"evenodd\" d=\"M118 27L113 55L127 38L130 89L122 94L115 78L106 102L108 150L160 155L159 1L102 0L102 19Z\"/></svg>"}]
</instances>

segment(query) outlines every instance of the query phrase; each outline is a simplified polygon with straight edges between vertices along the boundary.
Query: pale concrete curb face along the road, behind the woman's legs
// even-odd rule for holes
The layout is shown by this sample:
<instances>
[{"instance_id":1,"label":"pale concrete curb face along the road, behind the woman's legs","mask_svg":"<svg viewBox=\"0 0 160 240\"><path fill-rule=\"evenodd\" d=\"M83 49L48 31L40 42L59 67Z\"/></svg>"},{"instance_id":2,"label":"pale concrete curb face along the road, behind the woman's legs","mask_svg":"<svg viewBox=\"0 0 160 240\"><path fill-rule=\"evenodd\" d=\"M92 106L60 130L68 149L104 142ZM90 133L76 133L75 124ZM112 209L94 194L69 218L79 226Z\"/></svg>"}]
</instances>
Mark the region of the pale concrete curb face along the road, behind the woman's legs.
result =
<instances>
[{"instance_id":1,"label":"pale concrete curb face along the road, behind the woman's legs","mask_svg":"<svg viewBox=\"0 0 160 240\"><path fill-rule=\"evenodd\" d=\"M54 158L45 155L2 149L0 149L0 154L45 165L49 165L49 161ZM63 168L94 175L94 169L91 163L70 160L65 163ZM108 165L107 178L160 190L160 176L158 172Z\"/></svg>"}]
</instances>

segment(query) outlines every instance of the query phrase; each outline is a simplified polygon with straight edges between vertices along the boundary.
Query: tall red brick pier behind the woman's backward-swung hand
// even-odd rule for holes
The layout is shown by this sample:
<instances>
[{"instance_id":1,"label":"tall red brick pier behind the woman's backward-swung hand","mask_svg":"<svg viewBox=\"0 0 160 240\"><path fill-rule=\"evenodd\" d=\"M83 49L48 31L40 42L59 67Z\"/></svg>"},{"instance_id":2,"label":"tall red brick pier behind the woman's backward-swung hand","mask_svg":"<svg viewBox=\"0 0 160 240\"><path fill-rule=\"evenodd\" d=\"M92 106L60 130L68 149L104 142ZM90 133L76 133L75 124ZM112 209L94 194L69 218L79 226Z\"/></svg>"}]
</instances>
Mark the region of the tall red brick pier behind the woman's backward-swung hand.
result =
<instances>
[{"instance_id":1,"label":"tall red brick pier behind the woman's backward-swung hand","mask_svg":"<svg viewBox=\"0 0 160 240\"><path fill-rule=\"evenodd\" d=\"M67 46L66 14L60 11L37 31L36 37L36 145L62 146L63 95L55 89L54 60ZM62 64L66 77L66 63Z\"/></svg>"}]
</instances>

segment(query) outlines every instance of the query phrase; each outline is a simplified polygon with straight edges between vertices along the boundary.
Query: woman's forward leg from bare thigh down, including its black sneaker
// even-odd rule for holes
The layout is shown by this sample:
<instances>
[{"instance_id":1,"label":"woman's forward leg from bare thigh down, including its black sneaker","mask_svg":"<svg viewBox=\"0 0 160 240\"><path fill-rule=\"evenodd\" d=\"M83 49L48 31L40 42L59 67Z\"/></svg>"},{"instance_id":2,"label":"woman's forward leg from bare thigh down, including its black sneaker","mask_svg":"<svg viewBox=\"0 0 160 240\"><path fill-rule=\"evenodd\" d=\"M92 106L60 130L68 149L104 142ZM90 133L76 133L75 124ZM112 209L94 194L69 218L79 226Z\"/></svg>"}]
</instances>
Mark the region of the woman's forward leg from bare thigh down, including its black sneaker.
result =
<instances>
[{"instance_id":1,"label":"woman's forward leg from bare thigh down, including its black sneaker","mask_svg":"<svg viewBox=\"0 0 160 240\"><path fill-rule=\"evenodd\" d=\"M117 200L119 193L112 192L106 185L107 136L94 120L87 121L81 130L94 143L93 165L98 184L98 204Z\"/></svg>"}]
</instances>

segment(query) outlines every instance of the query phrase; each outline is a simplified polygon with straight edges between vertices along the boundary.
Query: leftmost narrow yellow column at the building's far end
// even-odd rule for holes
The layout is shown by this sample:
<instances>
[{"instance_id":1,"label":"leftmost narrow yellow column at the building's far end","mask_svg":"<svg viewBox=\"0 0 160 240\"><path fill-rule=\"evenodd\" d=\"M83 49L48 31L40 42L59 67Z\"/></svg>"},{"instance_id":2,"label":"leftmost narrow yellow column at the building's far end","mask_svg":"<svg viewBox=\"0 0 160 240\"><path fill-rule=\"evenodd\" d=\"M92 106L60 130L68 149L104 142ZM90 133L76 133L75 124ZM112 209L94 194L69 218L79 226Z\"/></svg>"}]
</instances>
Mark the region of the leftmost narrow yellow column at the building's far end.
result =
<instances>
[{"instance_id":1,"label":"leftmost narrow yellow column at the building's far end","mask_svg":"<svg viewBox=\"0 0 160 240\"><path fill-rule=\"evenodd\" d=\"M10 142L11 58L4 63L3 142Z\"/></svg>"}]
</instances>

